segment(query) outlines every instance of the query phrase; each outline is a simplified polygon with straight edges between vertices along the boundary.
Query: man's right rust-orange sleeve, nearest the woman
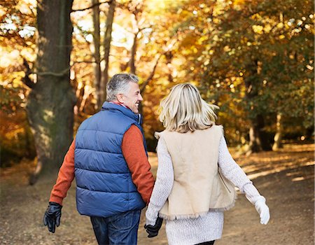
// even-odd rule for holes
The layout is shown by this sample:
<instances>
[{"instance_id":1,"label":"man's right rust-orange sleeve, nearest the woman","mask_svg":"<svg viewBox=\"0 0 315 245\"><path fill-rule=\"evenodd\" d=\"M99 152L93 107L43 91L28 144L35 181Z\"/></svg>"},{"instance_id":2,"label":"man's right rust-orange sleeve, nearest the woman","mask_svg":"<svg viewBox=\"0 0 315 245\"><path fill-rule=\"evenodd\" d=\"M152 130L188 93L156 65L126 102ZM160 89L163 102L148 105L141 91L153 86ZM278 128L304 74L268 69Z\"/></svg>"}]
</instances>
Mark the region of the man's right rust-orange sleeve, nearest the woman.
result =
<instances>
[{"instance_id":1,"label":"man's right rust-orange sleeve, nearest the woman","mask_svg":"<svg viewBox=\"0 0 315 245\"><path fill-rule=\"evenodd\" d=\"M148 204L154 186L154 179L150 171L151 165L144 150L144 139L136 125L132 125L125 132L122 151L132 173L132 181L137 186L137 190L144 202Z\"/></svg>"}]
</instances>

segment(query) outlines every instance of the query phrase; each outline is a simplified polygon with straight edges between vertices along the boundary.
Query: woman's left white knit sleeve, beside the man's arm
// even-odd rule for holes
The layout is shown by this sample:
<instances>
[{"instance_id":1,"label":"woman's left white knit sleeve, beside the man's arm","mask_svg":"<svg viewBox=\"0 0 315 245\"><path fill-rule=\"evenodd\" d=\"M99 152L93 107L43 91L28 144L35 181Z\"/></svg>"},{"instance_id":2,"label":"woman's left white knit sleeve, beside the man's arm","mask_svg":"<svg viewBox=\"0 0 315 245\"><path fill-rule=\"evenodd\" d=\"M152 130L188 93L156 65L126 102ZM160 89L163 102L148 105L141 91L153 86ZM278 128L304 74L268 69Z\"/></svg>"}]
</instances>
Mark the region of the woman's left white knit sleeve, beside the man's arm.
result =
<instances>
[{"instance_id":1,"label":"woman's left white knit sleeve, beside the man's arm","mask_svg":"<svg viewBox=\"0 0 315 245\"><path fill-rule=\"evenodd\" d=\"M167 197L172 191L174 184L174 169L171 155L167 151L165 140L160 138L158 141L158 172L151 195L150 203L146 211L146 224L155 225L158 213L167 201Z\"/></svg>"}]
</instances>

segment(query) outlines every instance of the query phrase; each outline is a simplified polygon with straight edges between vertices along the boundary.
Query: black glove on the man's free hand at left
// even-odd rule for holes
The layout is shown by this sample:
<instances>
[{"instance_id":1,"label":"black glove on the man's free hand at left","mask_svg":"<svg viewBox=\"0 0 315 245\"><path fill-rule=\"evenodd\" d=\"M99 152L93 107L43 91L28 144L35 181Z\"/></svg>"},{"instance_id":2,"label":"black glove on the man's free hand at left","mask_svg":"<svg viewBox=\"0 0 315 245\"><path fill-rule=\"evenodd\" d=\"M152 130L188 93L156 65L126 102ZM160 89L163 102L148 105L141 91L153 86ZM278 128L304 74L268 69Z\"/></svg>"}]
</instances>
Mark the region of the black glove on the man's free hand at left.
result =
<instances>
[{"instance_id":1,"label":"black glove on the man's free hand at left","mask_svg":"<svg viewBox=\"0 0 315 245\"><path fill-rule=\"evenodd\" d=\"M49 202L48 208L43 216L44 225L48 226L48 230L55 233L56 225L60 225L62 205L57 202Z\"/></svg>"}]
</instances>

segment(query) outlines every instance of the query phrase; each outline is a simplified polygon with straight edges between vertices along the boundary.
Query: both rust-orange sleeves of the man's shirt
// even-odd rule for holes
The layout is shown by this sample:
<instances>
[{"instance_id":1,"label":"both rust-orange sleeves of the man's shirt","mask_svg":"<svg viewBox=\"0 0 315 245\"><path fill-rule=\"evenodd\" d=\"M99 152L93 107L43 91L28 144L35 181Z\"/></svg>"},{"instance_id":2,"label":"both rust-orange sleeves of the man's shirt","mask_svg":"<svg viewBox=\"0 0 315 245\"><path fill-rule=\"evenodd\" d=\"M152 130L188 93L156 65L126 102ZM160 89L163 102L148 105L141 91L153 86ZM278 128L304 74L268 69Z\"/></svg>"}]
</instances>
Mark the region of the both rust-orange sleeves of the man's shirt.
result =
<instances>
[{"instance_id":1,"label":"both rust-orange sleeves of the man's shirt","mask_svg":"<svg viewBox=\"0 0 315 245\"><path fill-rule=\"evenodd\" d=\"M75 139L73 139L69 151L64 157L62 167L55 186L52 188L49 202L57 202L62 205L62 200L66 197L71 183L74 179L74 149ZM148 162L146 151L144 150L144 140L141 131L136 125L132 125L123 136L122 143L123 156L132 173L132 181L137 186L142 199L148 204L154 186L153 175L150 172L151 165Z\"/></svg>"}]
</instances>

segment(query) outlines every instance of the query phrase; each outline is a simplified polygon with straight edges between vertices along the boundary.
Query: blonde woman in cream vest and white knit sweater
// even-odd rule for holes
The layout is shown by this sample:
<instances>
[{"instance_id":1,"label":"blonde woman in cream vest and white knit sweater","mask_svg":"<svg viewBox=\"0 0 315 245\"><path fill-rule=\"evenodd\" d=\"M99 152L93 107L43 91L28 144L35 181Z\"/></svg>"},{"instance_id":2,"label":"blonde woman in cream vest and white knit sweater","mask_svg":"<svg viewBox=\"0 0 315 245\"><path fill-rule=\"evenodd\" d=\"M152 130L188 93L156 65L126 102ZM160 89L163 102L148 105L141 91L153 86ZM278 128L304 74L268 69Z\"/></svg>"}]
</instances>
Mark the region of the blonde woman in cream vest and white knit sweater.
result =
<instances>
[{"instance_id":1,"label":"blonde woman in cream vest and white knit sweater","mask_svg":"<svg viewBox=\"0 0 315 245\"><path fill-rule=\"evenodd\" d=\"M174 86L160 107L165 131L156 133L159 165L146 211L148 237L158 235L164 218L169 244L214 244L222 235L223 211L235 203L234 186L267 224L265 197L232 159L223 128L214 123L218 106L184 83Z\"/></svg>"}]
</instances>

